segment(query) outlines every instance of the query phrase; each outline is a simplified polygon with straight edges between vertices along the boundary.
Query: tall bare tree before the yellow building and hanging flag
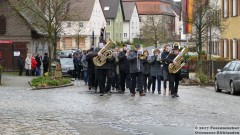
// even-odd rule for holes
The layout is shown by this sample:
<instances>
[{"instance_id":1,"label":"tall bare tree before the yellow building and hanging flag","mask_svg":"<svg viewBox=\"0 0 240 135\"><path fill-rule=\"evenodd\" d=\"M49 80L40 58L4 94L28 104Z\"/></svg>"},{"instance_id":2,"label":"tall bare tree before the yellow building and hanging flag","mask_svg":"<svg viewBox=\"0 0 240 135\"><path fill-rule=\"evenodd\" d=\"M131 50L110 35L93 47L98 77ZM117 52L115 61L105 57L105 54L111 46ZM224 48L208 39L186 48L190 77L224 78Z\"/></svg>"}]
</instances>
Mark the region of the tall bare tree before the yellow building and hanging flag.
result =
<instances>
[{"instance_id":1,"label":"tall bare tree before the yellow building and hanging flag","mask_svg":"<svg viewBox=\"0 0 240 135\"><path fill-rule=\"evenodd\" d=\"M195 0L192 7L192 19L185 17L183 20L193 25L193 34L196 36L195 43L198 52L198 69L201 73L203 45L208 43L210 36L213 34L220 35L227 26L222 23L224 20L221 18L218 0L212 0L211 4L208 0ZM183 12L183 14L185 13ZM214 32L209 34L209 30Z\"/></svg>"}]
</instances>

